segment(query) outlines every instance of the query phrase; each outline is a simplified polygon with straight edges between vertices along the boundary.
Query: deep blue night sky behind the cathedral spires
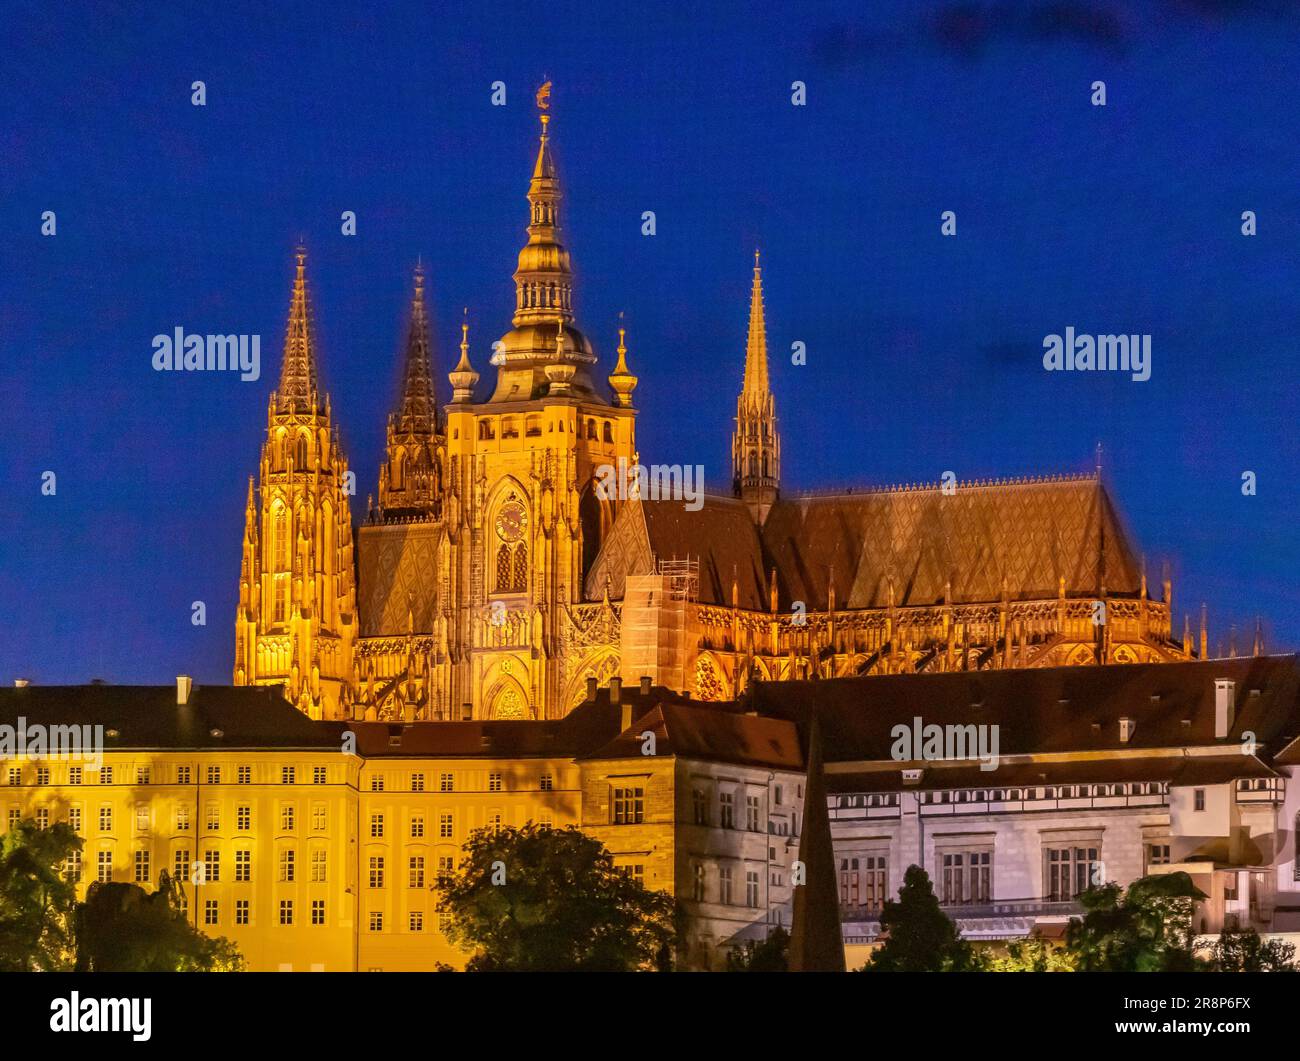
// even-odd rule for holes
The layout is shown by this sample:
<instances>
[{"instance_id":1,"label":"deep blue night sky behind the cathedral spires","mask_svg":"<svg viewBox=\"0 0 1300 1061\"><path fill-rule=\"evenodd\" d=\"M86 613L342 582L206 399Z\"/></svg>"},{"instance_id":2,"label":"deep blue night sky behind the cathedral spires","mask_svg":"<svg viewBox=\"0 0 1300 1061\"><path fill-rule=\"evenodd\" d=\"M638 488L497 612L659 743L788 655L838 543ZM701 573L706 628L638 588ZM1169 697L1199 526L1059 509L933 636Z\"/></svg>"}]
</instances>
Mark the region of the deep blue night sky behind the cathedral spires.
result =
<instances>
[{"instance_id":1,"label":"deep blue night sky behind the cathedral spires","mask_svg":"<svg viewBox=\"0 0 1300 1061\"><path fill-rule=\"evenodd\" d=\"M0 680L230 680L295 241L356 517L417 255L443 397L460 307L481 372L510 326L543 75L578 324L603 376L627 313L647 463L727 478L760 246L786 488L1079 472L1100 441L1175 627L1204 599L1212 642L1261 614L1300 644L1294 5L382 7L5 5ZM263 378L153 372L177 325L260 333ZM1150 381L1045 373L1067 325L1150 333Z\"/></svg>"}]
</instances>

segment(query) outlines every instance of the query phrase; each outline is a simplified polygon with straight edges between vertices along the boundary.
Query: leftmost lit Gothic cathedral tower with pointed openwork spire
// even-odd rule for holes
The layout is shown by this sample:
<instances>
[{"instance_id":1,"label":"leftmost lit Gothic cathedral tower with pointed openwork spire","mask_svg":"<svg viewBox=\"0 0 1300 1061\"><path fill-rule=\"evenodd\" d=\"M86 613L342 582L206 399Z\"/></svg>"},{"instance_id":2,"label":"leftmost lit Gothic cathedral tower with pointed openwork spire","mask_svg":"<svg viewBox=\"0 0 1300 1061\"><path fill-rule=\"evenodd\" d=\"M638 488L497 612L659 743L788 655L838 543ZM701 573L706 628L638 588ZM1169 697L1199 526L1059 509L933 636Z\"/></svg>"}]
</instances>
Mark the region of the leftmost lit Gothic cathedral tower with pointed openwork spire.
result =
<instances>
[{"instance_id":1,"label":"leftmost lit Gothic cathedral tower with pointed openwork spire","mask_svg":"<svg viewBox=\"0 0 1300 1061\"><path fill-rule=\"evenodd\" d=\"M259 489L248 480L235 685L283 685L315 719L344 718L352 696L356 586L348 497L355 478L321 404L307 298L307 251L289 306L280 386L266 407Z\"/></svg>"}]
</instances>

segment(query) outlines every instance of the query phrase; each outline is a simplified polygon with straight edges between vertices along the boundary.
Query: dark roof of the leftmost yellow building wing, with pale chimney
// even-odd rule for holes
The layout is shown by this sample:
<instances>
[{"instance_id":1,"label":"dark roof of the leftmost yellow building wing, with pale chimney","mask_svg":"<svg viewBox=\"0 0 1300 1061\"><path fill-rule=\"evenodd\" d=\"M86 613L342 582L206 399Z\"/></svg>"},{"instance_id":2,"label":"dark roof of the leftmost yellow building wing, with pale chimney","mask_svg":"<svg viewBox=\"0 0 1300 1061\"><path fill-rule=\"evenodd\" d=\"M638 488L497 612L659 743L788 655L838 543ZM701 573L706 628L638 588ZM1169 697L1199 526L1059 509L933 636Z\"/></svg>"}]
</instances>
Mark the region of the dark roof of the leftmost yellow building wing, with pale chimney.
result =
<instances>
[{"instance_id":1,"label":"dark roof of the leftmost yellow building wing, with pale chimney","mask_svg":"<svg viewBox=\"0 0 1300 1061\"><path fill-rule=\"evenodd\" d=\"M338 739L281 696L278 685L29 685L0 689L0 724L103 726L104 749L325 748ZM108 731L116 731L112 736ZM220 733L220 736L216 736Z\"/></svg>"}]
</instances>

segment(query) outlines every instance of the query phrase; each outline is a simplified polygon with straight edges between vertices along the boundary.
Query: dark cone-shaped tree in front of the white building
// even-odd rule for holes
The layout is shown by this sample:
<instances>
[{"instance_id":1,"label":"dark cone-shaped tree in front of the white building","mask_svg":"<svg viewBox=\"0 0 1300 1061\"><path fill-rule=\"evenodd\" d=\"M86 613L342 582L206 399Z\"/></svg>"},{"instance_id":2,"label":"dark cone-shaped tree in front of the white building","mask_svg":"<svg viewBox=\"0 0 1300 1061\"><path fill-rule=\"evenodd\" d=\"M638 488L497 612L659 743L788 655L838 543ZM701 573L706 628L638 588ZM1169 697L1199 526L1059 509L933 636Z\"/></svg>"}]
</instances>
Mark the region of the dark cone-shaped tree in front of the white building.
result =
<instances>
[{"instance_id":1,"label":"dark cone-shaped tree in front of the white building","mask_svg":"<svg viewBox=\"0 0 1300 1061\"><path fill-rule=\"evenodd\" d=\"M884 943L863 966L866 973L965 973L979 966L920 866L909 866L898 898L885 900L880 928Z\"/></svg>"}]
</instances>

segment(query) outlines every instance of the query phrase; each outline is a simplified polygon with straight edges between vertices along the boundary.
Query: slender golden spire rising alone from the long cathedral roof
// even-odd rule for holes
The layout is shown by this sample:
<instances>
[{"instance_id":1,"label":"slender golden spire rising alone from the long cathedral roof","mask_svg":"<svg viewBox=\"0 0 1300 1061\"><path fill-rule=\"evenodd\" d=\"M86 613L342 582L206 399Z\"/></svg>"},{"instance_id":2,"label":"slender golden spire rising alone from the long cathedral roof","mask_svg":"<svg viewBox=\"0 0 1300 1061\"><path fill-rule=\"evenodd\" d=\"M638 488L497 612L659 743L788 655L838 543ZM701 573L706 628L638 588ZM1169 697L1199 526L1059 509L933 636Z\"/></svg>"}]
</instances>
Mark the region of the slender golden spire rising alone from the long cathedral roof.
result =
<instances>
[{"instance_id":1,"label":"slender golden spire rising alone from the long cathedral roof","mask_svg":"<svg viewBox=\"0 0 1300 1061\"><path fill-rule=\"evenodd\" d=\"M745 378L736 399L732 481L736 497L742 498L754 519L763 523L780 491L781 439L776 430L776 399L767 374L767 322L758 251L754 251L754 283L749 298Z\"/></svg>"}]
</instances>

